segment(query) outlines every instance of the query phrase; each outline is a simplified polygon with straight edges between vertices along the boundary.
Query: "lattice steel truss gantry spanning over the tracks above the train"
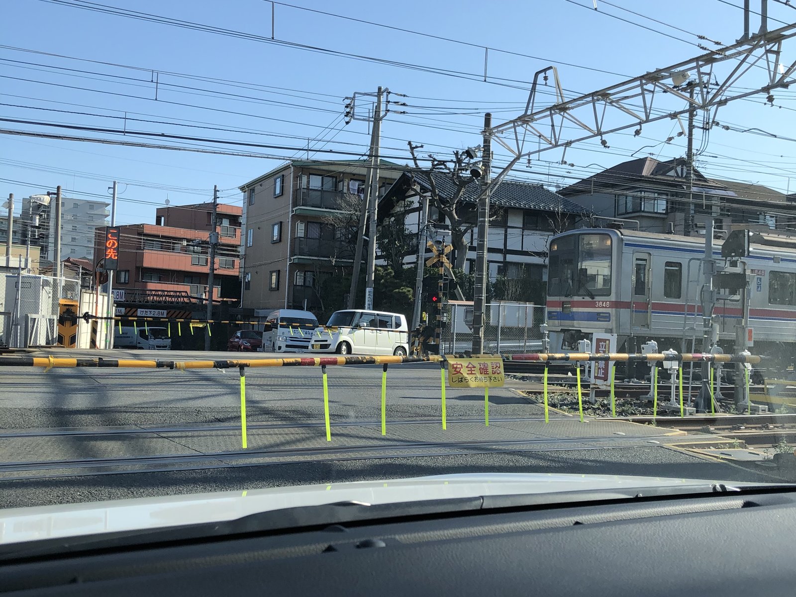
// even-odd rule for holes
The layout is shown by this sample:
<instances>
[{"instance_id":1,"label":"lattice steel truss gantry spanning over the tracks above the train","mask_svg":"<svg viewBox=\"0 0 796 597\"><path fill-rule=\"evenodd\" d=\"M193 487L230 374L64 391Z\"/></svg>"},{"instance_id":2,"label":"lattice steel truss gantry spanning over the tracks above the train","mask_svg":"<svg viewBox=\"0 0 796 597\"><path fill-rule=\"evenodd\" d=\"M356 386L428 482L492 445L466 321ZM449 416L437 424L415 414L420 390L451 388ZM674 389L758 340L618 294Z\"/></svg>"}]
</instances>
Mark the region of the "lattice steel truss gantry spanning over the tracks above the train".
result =
<instances>
[{"instance_id":1,"label":"lattice steel truss gantry spanning over the tracks above the train","mask_svg":"<svg viewBox=\"0 0 796 597\"><path fill-rule=\"evenodd\" d=\"M691 60L658 68L572 100L564 97L556 67L541 69L533 76L525 111L505 123L486 127L482 133L508 150L511 159L482 188L479 205L494 193L522 158L556 148L564 148L565 154L567 147L590 139L601 139L607 146L606 135L658 120L677 120L685 131L682 115L696 110L712 111L709 122L713 123L721 106L761 93L767 95L769 103L774 103L776 89L796 83L796 60L790 64L782 62L782 45L793 37L796 37L796 23L767 31L763 22L759 33L733 45L708 50ZM705 84L689 85L692 77ZM550 78L555 100L543 106L541 88ZM568 128L564 128L565 124ZM479 258L486 259L486 253ZM482 304L484 297L478 291L482 293L483 289L476 288L474 302ZM481 334L477 323L474 321L474 338Z\"/></svg>"}]
</instances>

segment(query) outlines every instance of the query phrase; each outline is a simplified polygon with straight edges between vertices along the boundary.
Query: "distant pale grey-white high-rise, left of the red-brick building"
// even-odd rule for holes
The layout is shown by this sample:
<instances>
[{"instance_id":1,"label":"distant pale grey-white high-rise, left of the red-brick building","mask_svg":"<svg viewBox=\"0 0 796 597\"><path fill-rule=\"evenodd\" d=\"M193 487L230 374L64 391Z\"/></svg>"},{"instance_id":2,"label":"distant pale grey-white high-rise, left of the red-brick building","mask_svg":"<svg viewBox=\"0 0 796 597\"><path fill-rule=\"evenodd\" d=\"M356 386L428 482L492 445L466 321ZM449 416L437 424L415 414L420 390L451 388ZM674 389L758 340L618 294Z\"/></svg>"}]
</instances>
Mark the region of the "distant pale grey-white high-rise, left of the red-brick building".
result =
<instances>
[{"instance_id":1,"label":"distant pale grey-white high-rise, left of the red-brick building","mask_svg":"<svg viewBox=\"0 0 796 597\"><path fill-rule=\"evenodd\" d=\"M21 223L32 224L30 244L41 247L41 259L55 256L55 195L32 195L22 199ZM94 259L94 228L107 226L111 212L108 201L94 199L60 200L60 258ZM22 236L21 243L26 242Z\"/></svg>"}]
</instances>

